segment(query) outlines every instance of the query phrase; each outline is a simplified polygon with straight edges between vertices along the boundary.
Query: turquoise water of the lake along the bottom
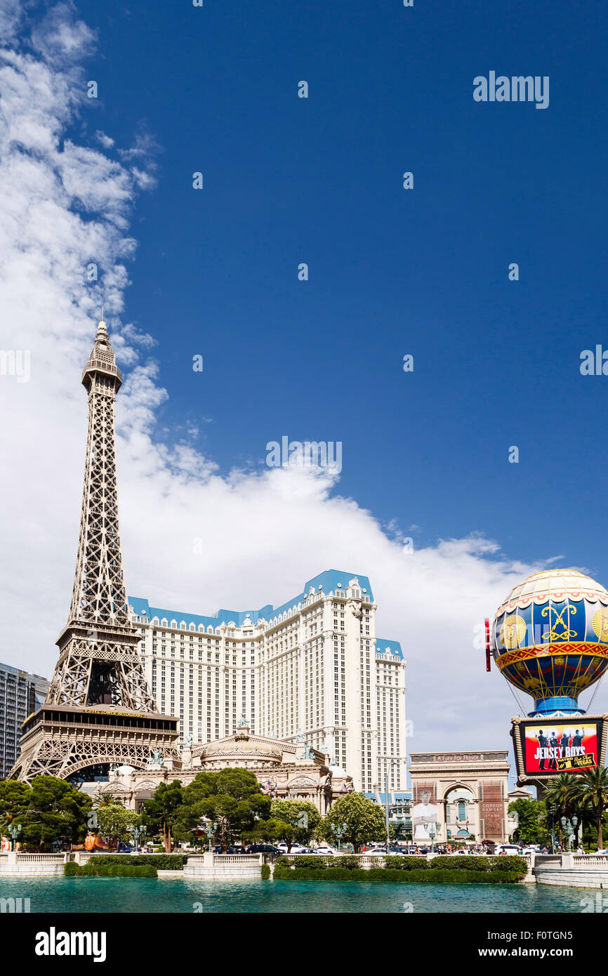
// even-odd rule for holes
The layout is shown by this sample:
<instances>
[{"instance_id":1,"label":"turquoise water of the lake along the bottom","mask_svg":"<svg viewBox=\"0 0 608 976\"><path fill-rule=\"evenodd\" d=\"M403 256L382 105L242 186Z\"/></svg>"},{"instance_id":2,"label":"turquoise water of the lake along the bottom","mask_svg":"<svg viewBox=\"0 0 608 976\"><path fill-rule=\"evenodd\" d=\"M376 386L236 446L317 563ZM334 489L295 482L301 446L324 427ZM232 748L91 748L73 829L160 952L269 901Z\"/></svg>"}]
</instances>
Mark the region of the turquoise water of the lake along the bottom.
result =
<instances>
[{"instance_id":1,"label":"turquoise water of the lake along the bottom","mask_svg":"<svg viewBox=\"0 0 608 976\"><path fill-rule=\"evenodd\" d=\"M183 881L60 877L0 880L0 898L31 913L580 913L580 888L537 884L385 884L364 881ZM409 908L408 906L411 906Z\"/></svg>"}]
</instances>

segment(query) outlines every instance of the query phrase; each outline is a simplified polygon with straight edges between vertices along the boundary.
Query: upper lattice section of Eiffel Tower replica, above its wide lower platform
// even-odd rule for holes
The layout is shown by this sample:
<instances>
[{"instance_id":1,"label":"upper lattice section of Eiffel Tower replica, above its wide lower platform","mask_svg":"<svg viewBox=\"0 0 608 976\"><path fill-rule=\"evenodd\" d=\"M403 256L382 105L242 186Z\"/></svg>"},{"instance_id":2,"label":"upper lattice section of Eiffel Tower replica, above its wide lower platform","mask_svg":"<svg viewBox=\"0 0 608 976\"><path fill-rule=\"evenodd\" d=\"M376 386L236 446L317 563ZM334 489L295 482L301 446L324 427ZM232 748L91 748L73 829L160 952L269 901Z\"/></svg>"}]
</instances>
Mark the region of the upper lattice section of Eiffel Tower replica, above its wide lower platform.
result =
<instances>
[{"instance_id":1,"label":"upper lattice section of Eiffel Tower replica, above its wide lower platform","mask_svg":"<svg viewBox=\"0 0 608 976\"><path fill-rule=\"evenodd\" d=\"M78 554L67 626L58 641L61 654L47 702L157 712L127 606L114 430L114 400L122 374L103 318L82 384L89 394L89 432Z\"/></svg>"}]
</instances>

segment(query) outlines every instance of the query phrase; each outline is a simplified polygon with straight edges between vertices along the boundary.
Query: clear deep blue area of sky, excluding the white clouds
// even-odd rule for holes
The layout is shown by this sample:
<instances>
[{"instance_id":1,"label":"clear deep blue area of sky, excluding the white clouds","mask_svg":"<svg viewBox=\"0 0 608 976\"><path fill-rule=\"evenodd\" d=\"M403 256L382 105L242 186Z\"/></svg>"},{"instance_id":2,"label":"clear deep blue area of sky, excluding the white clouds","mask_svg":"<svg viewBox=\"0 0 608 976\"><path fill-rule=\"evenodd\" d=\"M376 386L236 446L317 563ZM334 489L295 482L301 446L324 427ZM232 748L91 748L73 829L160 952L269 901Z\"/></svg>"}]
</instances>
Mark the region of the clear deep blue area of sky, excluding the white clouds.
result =
<instances>
[{"instance_id":1,"label":"clear deep blue area of sky, excluding the white clouds","mask_svg":"<svg viewBox=\"0 0 608 976\"><path fill-rule=\"evenodd\" d=\"M478 530L608 580L608 379L579 371L608 346L603 8L77 9L96 124L160 146L127 302L159 341L161 421L211 419L223 470L282 434L341 440L341 491L415 544ZM473 102L490 69L548 75L547 110Z\"/></svg>"}]
</instances>

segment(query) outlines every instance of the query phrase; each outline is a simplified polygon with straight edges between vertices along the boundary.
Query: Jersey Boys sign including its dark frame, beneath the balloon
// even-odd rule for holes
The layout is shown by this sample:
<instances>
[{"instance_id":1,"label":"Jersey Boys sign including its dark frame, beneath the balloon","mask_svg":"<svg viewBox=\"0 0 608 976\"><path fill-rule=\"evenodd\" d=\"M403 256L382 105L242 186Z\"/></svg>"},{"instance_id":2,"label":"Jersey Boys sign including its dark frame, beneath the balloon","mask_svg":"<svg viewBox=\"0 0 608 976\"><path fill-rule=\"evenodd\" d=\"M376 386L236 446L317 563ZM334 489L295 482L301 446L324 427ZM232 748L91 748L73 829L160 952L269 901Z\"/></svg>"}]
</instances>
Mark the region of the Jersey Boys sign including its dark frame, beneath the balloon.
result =
<instances>
[{"instance_id":1,"label":"Jersey Boys sign including its dark frame, beneath the balloon","mask_svg":"<svg viewBox=\"0 0 608 976\"><path fill-rule=\"evenodd\" d=\"M580 718L513 719L513 744L519 779L545 779L582 773L603 765L605 715Z\"/></svg>"}]
</instances>

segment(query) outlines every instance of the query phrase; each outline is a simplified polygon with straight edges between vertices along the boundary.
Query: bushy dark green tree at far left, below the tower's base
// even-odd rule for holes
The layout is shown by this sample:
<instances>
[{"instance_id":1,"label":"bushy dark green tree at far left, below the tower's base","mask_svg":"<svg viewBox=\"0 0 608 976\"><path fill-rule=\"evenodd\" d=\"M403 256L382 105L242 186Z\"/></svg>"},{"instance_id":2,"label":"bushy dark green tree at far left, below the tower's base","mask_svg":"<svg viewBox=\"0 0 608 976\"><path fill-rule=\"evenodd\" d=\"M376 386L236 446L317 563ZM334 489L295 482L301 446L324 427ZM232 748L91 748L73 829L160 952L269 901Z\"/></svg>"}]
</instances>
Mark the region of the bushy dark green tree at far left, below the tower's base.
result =
<instances>
[{"instance_id":1,"label":"bushy dark green tree at far left, below the tower's base","mask_svg":"<svg viewBox=\"0 0 608 976\"><path fill-rule=\"evenodd\" d=\"M0 823L21 825L20 841L28 847L49 847L66 837L84 837L91 797L56 776L36 776L31 786L5 780L0 783Z\"/></svg>"}]
</instances>

